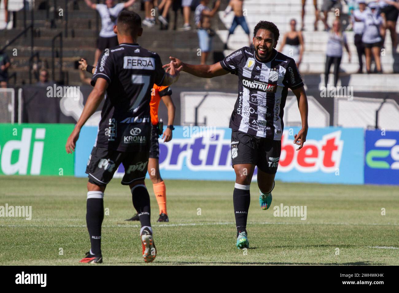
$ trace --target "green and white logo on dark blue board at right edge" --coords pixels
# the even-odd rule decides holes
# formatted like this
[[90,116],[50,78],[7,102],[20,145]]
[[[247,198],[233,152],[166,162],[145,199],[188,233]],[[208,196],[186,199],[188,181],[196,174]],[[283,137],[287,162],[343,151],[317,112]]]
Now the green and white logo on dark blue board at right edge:
[[[374,143],[376,149],[371,149],[366,153],[366,164],[375,169],[395,169],[399,170],[399,144],[395,139],[381,138]],[[393,163],[387,159],[393,159]]]

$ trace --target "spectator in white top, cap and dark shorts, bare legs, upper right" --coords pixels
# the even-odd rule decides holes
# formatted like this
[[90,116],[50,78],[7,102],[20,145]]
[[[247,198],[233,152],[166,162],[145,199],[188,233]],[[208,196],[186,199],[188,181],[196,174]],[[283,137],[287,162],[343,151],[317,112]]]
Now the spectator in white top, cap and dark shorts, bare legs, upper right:
[[364,18],[364,31],[361,40],[363,41],[364,51],[366,55],[366,70],[371,73],[371,54],[373,54],[377,73],[382,73],[381,68],[381,30],[385,27],[384,19],[378,13],[378,4],[369,3],[371,11],[367,11]]

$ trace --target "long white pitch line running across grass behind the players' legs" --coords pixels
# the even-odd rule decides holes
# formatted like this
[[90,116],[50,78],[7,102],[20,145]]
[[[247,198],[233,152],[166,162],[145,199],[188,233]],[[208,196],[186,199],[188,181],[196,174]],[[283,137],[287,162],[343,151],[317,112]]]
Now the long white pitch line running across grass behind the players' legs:
[[[177,227],[177,226],[218,226],[218,225],[233,225],[234,222],[213,222],[213,223],[180,223],[180,224],[158,224],[154,227]],[[398,226],[398,223],[304,223],[304,222],[249,222],[248,224],[261,224],[261,225],[334,225],[334,226]],[[86,227],[86,225],[6,225],[2,224],[0,227]],[[120,228],[120,227],[132,227],[137,228],[140,225],[103,225],[104,228]]]

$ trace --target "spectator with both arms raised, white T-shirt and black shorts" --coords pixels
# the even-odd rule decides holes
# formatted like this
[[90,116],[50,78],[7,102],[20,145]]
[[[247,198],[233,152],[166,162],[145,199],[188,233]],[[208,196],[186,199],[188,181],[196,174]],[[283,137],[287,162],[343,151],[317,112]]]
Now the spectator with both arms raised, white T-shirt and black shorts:
[[105,0],[105,4],[95,4],[91,0],[85,0],[87,6],[91,9],[95,9],[99,12],[101,17],[101,31],[97,41],[97,49],[94,55],[94,66],[97,65],[97,61],[101,53],[107,49],[115,47],[118,44],[117,34],[114,33],[114,26],[117,25],[117,17],[119,12],[124,8],[128,8],[136,0],[129,0],[115,4],[114,0]]

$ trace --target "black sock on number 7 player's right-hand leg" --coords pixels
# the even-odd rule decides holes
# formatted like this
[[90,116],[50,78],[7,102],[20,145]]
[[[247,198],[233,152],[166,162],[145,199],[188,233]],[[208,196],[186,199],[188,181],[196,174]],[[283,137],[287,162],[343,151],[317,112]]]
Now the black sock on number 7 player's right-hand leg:
[[150,207],[150,195],[148,194],[147,187],[145,185],[136,185],[132,188],[132,201],[133,206],[138,212],[138,218],[142,227],[151,227],[151,207]]

